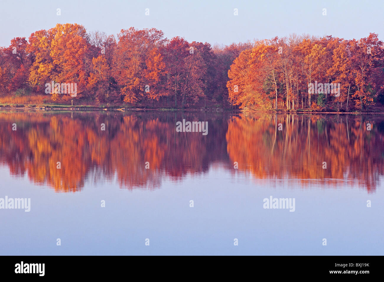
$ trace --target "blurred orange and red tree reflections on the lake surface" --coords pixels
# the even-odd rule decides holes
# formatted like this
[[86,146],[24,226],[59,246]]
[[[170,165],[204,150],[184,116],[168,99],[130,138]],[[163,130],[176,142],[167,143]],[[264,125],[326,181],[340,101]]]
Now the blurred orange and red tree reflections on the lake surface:
[[[176,132],[182,119],[207,121],[208,135]],[[297,180],[301,187],[357,183],[371,193],[382,174],[383,132],[377,115],[1,112],[0,163],[58,192],[115,179],[122,188],[156,189],[164,178],[220,165],[228,175]]]

